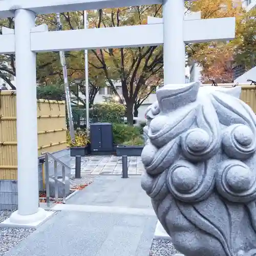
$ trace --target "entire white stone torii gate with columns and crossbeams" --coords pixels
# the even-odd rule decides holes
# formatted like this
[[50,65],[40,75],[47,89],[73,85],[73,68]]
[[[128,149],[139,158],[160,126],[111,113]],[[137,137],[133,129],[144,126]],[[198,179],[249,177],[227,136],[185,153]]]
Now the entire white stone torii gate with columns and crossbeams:
[[[163,23],[51,32],[35,27],[38,14],[151,4],[163,4]],[[36,52],[163,44],[164,84],[184,83],[184,44],[230,40],[235,26],[233,17],[184,20],[184,0],[1,0],[0,18],[13,16],[15,31],[3,28],[0,54],[16,56],[18,210],[2,225],[19,227],[36,227],[50,216],[38,208]]]

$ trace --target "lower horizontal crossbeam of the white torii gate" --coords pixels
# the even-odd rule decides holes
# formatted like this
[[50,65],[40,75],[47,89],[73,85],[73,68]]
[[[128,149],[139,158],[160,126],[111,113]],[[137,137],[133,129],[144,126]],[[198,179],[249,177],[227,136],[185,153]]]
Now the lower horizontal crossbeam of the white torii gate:
[[[230,30],[232,25],[232,17],[186,20],[184,21],[183,41],[192,43],[230,40],[233,38],[233,31]],[[51,32],[48,32],[45,26],[38,26],[30,33],[30,38],[30,49],[33,52],[155,46],[163,45],[164,42],[163,23]],[[72,38],[72,41],[67,38]],[[81,38],[90,38],[90,40],[81,40]],[[4,29],[3,35],[0,36],[0,53],[15,53],[14,31]]]

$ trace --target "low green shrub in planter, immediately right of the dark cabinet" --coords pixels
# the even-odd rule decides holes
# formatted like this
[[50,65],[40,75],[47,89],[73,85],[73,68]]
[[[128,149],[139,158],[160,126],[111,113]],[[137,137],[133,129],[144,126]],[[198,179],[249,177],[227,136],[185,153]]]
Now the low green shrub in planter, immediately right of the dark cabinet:
[[113,137],[115,144],[123,144],[125,141],[128,142],[141,137],[140,128],[124,123],[113,123]]

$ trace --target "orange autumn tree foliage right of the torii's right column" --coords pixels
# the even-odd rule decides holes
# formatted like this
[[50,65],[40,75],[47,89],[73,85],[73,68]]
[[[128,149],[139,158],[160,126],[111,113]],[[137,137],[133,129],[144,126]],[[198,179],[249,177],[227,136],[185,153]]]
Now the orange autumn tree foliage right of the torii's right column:
[[[236,17],[237,32],[245,14],[241,1],[233,0],[199,0],[190,4],[191,11],[201,11],[201,18]],[[237,33],[238,34],[238,33]],[[236,48],[234,41],[209,42],[193,44],[187,47],[188,63],[196,61],[202,67],[201,82],[217,83],[233,81],[232,67],[236,64]]]

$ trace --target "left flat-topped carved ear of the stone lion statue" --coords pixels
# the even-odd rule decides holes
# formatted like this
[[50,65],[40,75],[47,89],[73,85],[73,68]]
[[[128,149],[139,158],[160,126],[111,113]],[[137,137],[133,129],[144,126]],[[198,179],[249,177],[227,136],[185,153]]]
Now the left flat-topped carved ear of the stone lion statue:
[[199,82],[187,84],[170,84],[157,90],[157,100],[162,112],[174,111],[196,101]]

